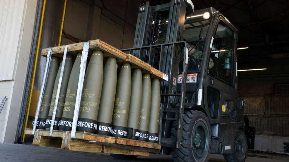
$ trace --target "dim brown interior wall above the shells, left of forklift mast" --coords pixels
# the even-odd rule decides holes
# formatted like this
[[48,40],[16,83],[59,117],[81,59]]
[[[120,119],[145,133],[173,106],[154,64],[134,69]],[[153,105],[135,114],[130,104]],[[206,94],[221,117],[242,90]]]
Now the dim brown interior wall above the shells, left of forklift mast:
[[[81,40],[101,39],[116,48],[133,45],[135,26],[141,0],[93,0],[85,4],[67,1],[64,31]],[[75,43],[62,38],[62,45]]]

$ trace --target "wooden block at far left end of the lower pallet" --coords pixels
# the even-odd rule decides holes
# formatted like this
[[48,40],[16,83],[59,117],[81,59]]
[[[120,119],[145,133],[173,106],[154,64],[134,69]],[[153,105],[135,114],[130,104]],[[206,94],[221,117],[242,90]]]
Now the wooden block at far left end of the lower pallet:
[[32,145],[41,146],[41,147],[61,148],[62,138],[38,136],[37,141],[35,140],[35,138],[36,138],[36,136],[34,136],[34,138],[33,138]]

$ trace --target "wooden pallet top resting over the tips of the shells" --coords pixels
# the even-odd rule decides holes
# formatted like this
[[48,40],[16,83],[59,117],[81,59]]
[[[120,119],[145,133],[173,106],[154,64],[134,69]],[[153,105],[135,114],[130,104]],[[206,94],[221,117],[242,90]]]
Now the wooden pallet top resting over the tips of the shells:
[[[84,42],[69,44],[67,48],[67,53],[71,55],[77,55],[78,52],[82,52]],[[56,46],[52,49],[52,55],[62,57],[65,46]],[[49,48],[42,49],[41,55],[46,56],[48,54]],[[91,55],[93,50],[101,50],[104,52],[104,57],[115,57],[118,63],[129,62],[132,64],[132,68],[140,68],[143,73],[151,74],[151,78],[159,78],[160,81],[167,81],[167,75],[160,72],[159,70],[151,67],[150,64],[142,61],[141,59],[131,55],[126,54],[119,49],[97,39],[89,41],[89,55]]]

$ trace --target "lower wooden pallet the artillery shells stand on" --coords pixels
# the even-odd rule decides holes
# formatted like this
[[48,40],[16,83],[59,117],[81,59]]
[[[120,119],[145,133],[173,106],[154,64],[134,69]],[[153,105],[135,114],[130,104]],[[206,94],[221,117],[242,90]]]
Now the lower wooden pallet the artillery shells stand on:
[[[26,129],[25,134],[32,134],[32,129]],[[33,145],[42,147],[58,147],[71,151],[103,152],[110,154],[148,156],[149,152],[160,152],[161,145],[157,143],[131,140],[120,137],[110,137],[87,132],[76,132],[75,139],[71,133],[49,130],[39,130],[34,134]]]

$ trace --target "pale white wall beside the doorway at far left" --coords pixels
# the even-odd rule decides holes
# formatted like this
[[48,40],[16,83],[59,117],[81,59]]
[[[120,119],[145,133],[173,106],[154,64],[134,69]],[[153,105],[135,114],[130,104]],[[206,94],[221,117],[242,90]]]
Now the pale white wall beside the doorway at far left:
[[37,0],[0,1],[0,143],[14,143],[33,40]]

